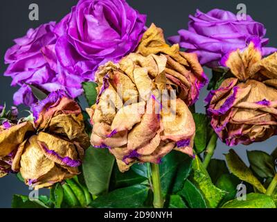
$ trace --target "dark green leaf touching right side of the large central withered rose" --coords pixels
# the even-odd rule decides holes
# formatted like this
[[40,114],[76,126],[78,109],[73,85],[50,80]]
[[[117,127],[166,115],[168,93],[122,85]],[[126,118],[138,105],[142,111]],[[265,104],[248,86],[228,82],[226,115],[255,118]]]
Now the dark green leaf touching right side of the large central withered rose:
[[195,120],[195,151],[202,153],[206,148],[209,120],[205,114],[193,113]]

